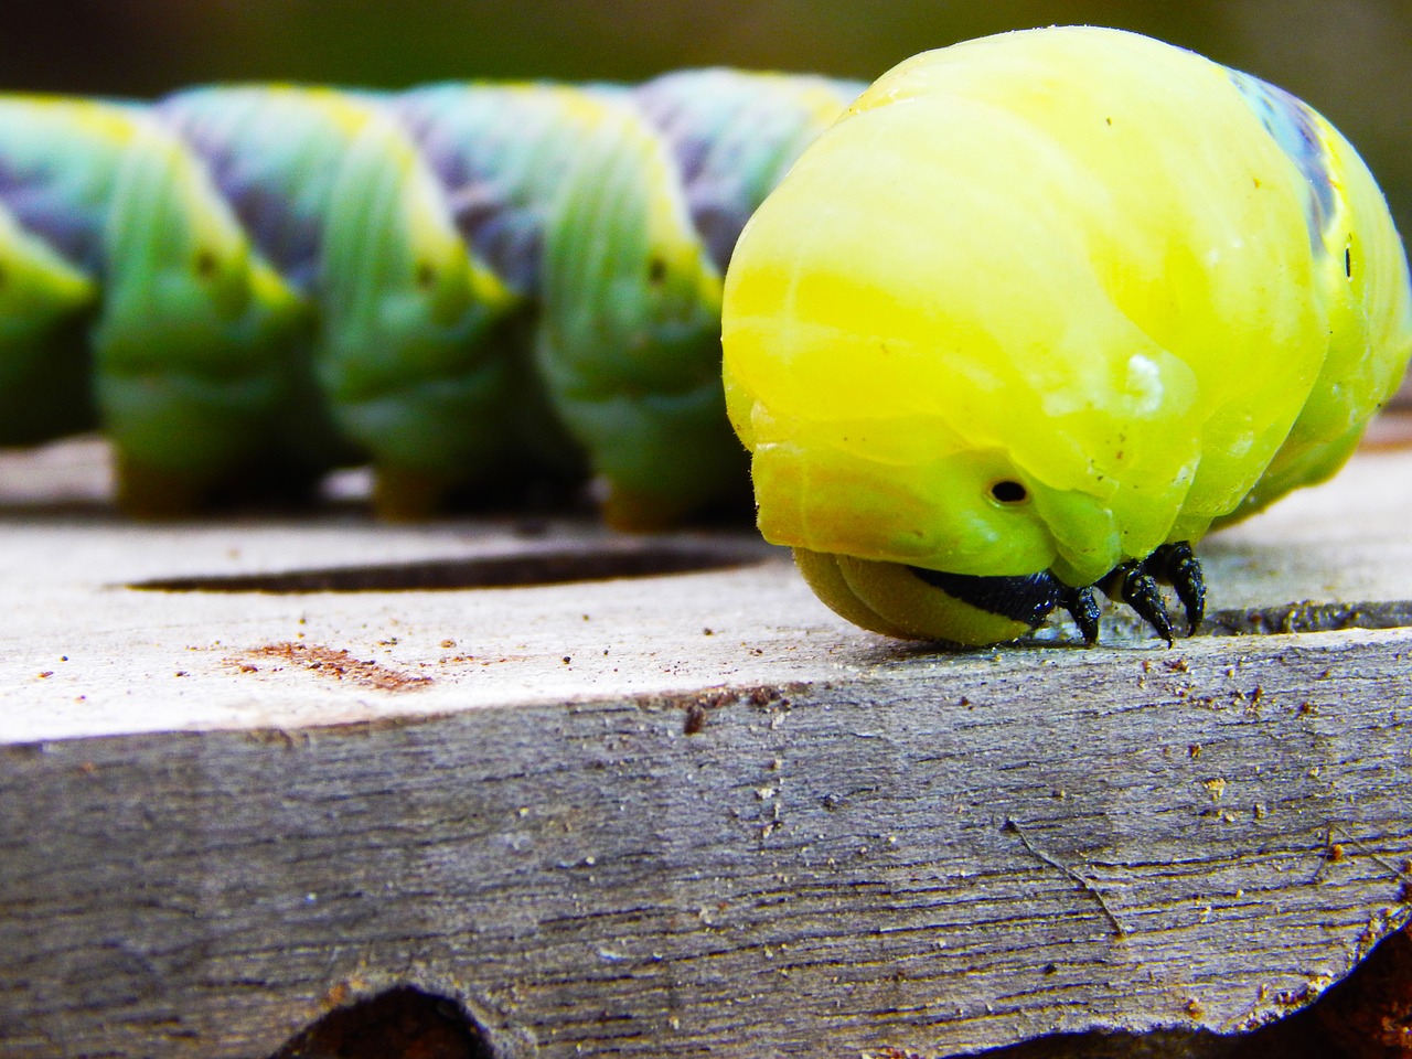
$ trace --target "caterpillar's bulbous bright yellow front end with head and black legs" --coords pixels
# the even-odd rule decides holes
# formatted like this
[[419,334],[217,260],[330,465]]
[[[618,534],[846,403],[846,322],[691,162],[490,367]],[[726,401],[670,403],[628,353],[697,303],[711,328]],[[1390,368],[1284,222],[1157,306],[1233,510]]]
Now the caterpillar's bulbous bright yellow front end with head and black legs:
[[[847,189],[840,193],[840,189]],[[894,637],[990,644],[1094,586],[1172,642],[1192,544],[1332,474],[1412,350],[1408,263],[1353,147],[1137,34],[912,58],[741,234],[724,385],[764,535]]]

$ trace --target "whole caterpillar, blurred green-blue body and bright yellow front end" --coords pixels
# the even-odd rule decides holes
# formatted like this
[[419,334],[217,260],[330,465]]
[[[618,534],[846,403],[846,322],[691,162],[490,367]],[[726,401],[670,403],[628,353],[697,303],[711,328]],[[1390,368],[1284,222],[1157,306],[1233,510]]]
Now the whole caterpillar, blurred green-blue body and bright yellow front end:
[[0,442],[99,422],[145,511],[271,463],[369,456],[390,514],[587,467],[638,528],[744,442],[761,531],[866,628],[1091,642],[1097,586],[1171,641],[1166,580],[1195,630],[1192,544],[1332,474],[1412,353],[1367,168],[1114,30],[863,88],[0,100]]

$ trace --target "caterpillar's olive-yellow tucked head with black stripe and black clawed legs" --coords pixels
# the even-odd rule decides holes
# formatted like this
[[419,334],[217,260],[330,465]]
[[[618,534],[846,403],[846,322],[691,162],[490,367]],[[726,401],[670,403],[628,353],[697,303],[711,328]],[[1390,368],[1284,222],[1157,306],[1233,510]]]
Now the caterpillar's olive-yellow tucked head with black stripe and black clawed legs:
[[[1022,576],[943,573],[898,562],[795,548],[795,563],[834,613],[901,640],[962,647],[998,644],[1034,631],[1055,607],[1069,611],[1086,644],[1099,640],[1100,609],[1091,586],[1070,586],[1048,570]],[[1206,585],[1187,542],[1165,544],[1147,559],[1114,568],[1100,585],[1121,597],[1172,645],[1172,624],[1156,582],[1175,586],[1187,635],[1200,626]]]

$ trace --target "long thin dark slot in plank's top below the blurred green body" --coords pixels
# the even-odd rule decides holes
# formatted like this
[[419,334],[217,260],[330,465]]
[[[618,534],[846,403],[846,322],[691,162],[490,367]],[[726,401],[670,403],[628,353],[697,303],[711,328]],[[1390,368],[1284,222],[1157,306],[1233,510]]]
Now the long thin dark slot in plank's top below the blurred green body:
[[761,562],[765,545],[604,542],[582,548],[537,548],[466,559],[330,566],[282,573],[158,578],[127,587],[155,592],[429,592],[568,585],[613,578],[699,573]]

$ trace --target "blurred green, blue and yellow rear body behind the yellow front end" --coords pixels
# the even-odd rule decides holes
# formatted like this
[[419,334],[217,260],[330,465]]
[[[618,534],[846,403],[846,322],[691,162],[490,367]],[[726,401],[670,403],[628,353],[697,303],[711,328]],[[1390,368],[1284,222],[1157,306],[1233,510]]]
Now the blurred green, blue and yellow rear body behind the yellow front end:
[[100,426],[138,514],[352,462],[394,517],[586,470],[627,528],[744,494],[722,275],[863,88],[0,97],[0,443]]

